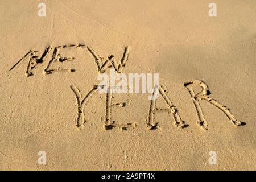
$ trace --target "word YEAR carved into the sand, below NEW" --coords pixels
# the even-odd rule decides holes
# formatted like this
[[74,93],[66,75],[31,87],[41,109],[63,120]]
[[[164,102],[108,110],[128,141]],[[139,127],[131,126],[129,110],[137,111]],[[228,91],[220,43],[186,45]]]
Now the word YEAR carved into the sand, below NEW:
[[[201,91],[199,93],[195,94],[195,91],[193,87],[200,86]],[[213,106],[217,107],[222,113],[226,115],[226,117],[229,119],[230,123],[232,123],[234,126],[240,126],[243,123],[240,121],[237,121],[237,119],[230,113],[229,109],[223,105],[221,105],[216,100],[210,98],[208,86],[205,84],[205,82],[200,80],[194,80],[184,83],[184,87],[188,89],[188,92],[192,98],[192,102],[195,106],[196,115],[198,120],[196,121],[197,125],[203,129],[204,131],[208,130],[208,122],[204,118],[203,110],[201,109],[201,106],[199,104],[199,100],[205,100],[208,101]],[[76,127],[78,129],[82,129],[84,127],[84,123],[86,122],[84,119],[84,105],[89,100],[89,97],[92,96],[92,94],[98,93],[96,92],[98,88],[98,85],[94,85],[93,88],[89,91],[88,94],[84,98],[82,98],[80,91],[76,88],[76,86],[71,85],[72,91],[75,93],[75,96],[77,98],[77,120],[76,120]],[[110,89],[110,88],[109,88]],[[158,101],[158,98],[155,100],[150,100],[148,105],[148,117],[147,117],[147,129],[148,130],[155,130],[160,129],[158,123],[154,121],[155,114],[156,113],[168,113],[172,115],[172,118],[174,119],[174,126],[178,129],[182,129],[184,127],[187,127],[188,125],[185,124],[184,121],[182,121],[177,108],[172,104],[170,98],[167,96],[167,88],[165,86],[160,85],[159,86],[159,97],[162,97],[164,101],[166,102],[166,108],[165,109],[159,109],[156,107],[156,102]],[[132,101],[127,100],[127,102],[121,102],[121,103],[112,103],[112,92],[108,92],[105,94],[105,116],[101,118],[101,121],[104,122],[103,128],[104,130],[110,130],[114,127],[119,128],[121,131],[127,130],[127,129],[134,129],[137,126],[137,123],[126,123],[126,124],[118,124],[115,123],[112,120],[112,109],[114,107],[118,106],[125,107],[127,105],[131,105]],[[154,93],[153,93],[154,95]]]

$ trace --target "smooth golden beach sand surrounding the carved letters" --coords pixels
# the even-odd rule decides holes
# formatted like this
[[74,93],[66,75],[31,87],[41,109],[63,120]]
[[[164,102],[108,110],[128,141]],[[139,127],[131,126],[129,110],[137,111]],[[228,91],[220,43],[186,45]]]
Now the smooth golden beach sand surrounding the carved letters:
[[[45,17],[38,16],[42,2]],[[256,2],[215,0],[217,17],[209,17],[211,2],[1,0],[0,169],[255,170]],[[55,48],[71,44],[85,46],[60,49],[63,59],[75,59],[56,61],[55,72],[45,74]],[[159,73],[186,127],[177,128],[173,114],[163,111],[148,130],[151,100],[138,93],[112,94],[112,104],[130,103],[113,107],[116,126],[104,130],[106,94],[95,92],[78,129],[71,86],[85,97],[99,83],[88,46],[104,60],[114,55],[118,61],[129,46],[122,73]],[[48,47],[33,75],[26,75],[29,57],[10,70],[26,53],[33,61]],[[212,103],[192,100],[184,83],[193,80],[207,84],[208,97],[227,106],[242,126]],[[194,101],[207,131],[197,124]],[[170,108],[161,94],[155,106]],[[46,152],[46,165],[38,164],[39,151]],[[210,151],[217,164],[209,164]]]

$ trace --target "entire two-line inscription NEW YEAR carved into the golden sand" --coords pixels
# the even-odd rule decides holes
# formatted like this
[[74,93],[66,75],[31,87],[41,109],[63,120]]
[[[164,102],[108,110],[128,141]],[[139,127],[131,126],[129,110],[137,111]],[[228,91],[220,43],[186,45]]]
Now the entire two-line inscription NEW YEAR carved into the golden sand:
[[[70,45],[63,45],[63,46],[57,46],[54,48],[54,51],[52,53],[52,58],[49,60],[49,63],[47,65],[47,68],[44,69],[44,73],[46,75],[52,74],[52,73],[60,73],[60,72],[74,72],[74,69],[61,69],[61,68],[54,68],[53,64],[56,62],[63,63],[65,61],[72,61],[75,59],[75,57],[62,57],[59,53],[59,51],[63,48],[80,48],[84,47],[82,44],[70,44]],[[52,46],[48,46],[46,50],[43,52],[41,56],[36,56],[36,52],[34,50],[28,51],[26,55],[22,57],[16,64],[11,67],[10,71],[13,70],[15,67],[17,67],[20,63],[22,63],[25,59],[29,59],[28,66],[26,70],[26,76],[32,76],[32,69],[36,68],[38,64],[43,63],[43,61],[46,59],[46,57],[49,55],[49,52],[51,51]],[[125,47],[125,50],[123,52],[123,56],[121,60],[117,61],[113,55],[108,56],[108,59],[104,60],[104,58],[96,53],[91,47],[87,47],[88,52],[93,56],[93,59],[95,60],[96,66],[97,66],[97,72],[98,73],[104,73],[107,68],[114,68],[114,72],[118,75],[119,73],[122,73],[123,68],[125,68],[128,57],[129,57],[129,50],[130,48],[127,46]],[[77,118],[76,118],[76,127],[78,129],[82,129],[85,124],[85,113],[84,113],[84,106],[86,105],[86,102],[89,100],[90,96],[93,94],[99,93],[97,90],[99,88],[102,88],[106,85],[94,85],[92,86],[92,89],[90,89],[89,93],[86,94],[85,97],[82,97],[79,89],[76,88],[76,86],[71,85],[70,88],[73,91],[73,93],[76,96],[77,100]],[[195,92],[195,86],[200,87],[201,91],[199,93]],[[108,90],[111,90],[113,88],[110,88],[109,86]],[[184,121],[182,121],[177,108],[172,104],[170,97],[167,95],[167,88],[163,85],[155,85],[153,96],[157,95],[155,99],[152,99],[148,101],[148,116],[147,116],[147,129],[149,130],[155,130],[160,129],[158,123],[155,122],[155,114],[156,113],[168,113],[172,115],[172,118],[174,119],[174,126],[178,129],[182,129],[184,127],[187,127],[188,125],[185,124]],[[195,111],[197,115],[197,125],[203,129],[204,131],[208,130],[208,122],[204,118],[203,109],[200,106],[199,101],[205,100],[215,106],[218,110],[222,111],[226,115],[226,117],[229,119],[230,123],[232,123],[234,126],[240,126],[245,123],[237,121],[237,119],[230,113],[229,109],[221,105],[219,102],[214,100],[213,98],[209,97],[209,90],[207,84],[205,82],[200,80],[192,80],[184,83],[184,88],[188,90],[188,94],[191,96],[191,100],[193,102],[193,105],[195,106]],[[158,102],[158,93],[159,96],[164,99],[166,102],[166,108],[165,109],[159,109],[156,107],[156,103]],[[104,94],[104,93],[101,93]],[[127,130],[127,129],[135,129],[137,126],[137,123],[126,123],[126,124],[118,124],[115,123],[112,119],[112,110],[115,107],[126,107],[127,105],[131,105],[132,101],[127,100],[126,102],[120,102],[120,103],[112,103],[112,92],[106,92],[105,95],[105,115],[101,118],[101,121],[104,123],[103,128],[104,130],[110,130],[113,128],[119,128],[121,131]]]

